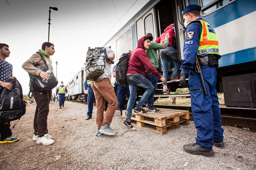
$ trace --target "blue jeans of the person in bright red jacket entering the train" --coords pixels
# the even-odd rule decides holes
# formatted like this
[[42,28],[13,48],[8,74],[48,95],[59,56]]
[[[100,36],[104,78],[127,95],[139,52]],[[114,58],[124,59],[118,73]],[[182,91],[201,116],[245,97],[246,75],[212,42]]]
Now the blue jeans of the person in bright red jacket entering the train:
[[163,77],[166,79],[166,83],[163,83],[163,85],[167,85],[167,75],[169,72],[169,68],[168,68],[169,59],[172,59],[175,62],[175,67],[173,69],[171,78],[175,78],[177,76],[181,66],[181,61],[178,59],[177,51],[172,46],[169,46],[165,49],[161,49],[160,57],[163,65]]

